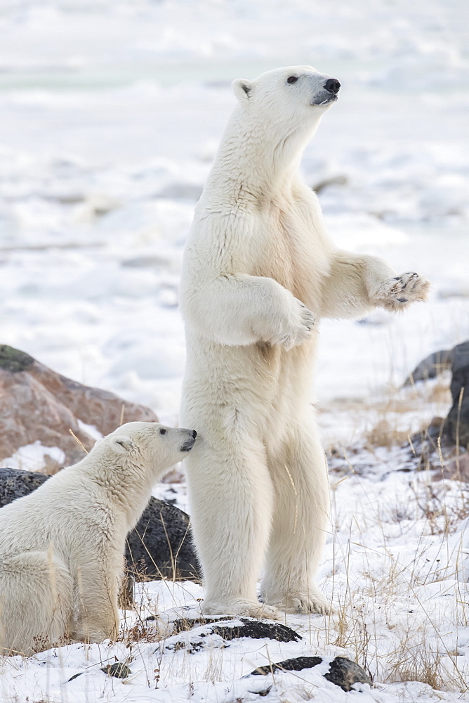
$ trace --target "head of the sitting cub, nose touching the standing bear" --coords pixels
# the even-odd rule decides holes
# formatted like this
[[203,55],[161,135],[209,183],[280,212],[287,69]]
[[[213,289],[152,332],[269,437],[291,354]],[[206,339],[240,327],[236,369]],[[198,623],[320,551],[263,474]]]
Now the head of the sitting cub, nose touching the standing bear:
[[116,459],[152,467],[155,475],[183,460],[195,444],[197,432],[159,423],[126,423],[96,443]]

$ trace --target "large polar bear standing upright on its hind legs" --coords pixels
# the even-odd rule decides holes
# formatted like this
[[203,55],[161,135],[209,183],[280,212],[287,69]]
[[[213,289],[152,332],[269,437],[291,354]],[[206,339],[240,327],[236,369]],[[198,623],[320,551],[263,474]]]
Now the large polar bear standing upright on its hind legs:
[[201,437],[186,466],[206,614],[327,612],[314,578],[330,530],[310,407],[317,321],[400,310],[428,290],[416,273],[336,248],[298,176],[339,88],[310,66],[234,81],[237,108],[187,240],[181,422]]

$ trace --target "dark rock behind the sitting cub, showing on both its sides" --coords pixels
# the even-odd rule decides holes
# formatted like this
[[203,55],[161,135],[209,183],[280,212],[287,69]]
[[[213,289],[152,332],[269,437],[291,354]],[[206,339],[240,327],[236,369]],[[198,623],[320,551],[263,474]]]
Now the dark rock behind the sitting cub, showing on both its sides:
[[[0,508],[28,496],[48,478],[34,471],[0,469]],[[123,606],[130,605],[133,579],[200,581],[189,515],[157,498],[150,498],[136,528],[128,534],[126,559],[129,574],[121,592]]]

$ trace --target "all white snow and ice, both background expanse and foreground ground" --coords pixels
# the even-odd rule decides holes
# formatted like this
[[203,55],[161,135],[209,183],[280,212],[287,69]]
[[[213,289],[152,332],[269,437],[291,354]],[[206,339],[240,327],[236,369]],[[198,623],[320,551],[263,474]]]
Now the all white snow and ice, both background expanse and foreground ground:
[[[400,316],[377,311],[360,323],[322,323],[324,439],[355,441],[378,420],[367,408],[419,359],[469,337],[467,39],[462,0],[3,0],[0,342],[175,422],[185,357],[180,259],[234,105],[230,82],[279,65],[314,65],[342,84],[303,161],[308,183],[329,181],[319,197],[331,235],[433,284],[428,304]],[[436,414],[430,404],[419,407],[418,396],[412,402],[399,423]],[[343,646],[384,682],[405,673],[392,673],[386,652],[407,648],[423,666],[426,642],[430,668],[431,657],[442,657],[451,670],[447,687],[462,690],[452,662],[467,680],[468,594],[456,586],[453,566],[464,511],[455,508],[450,534],[433,529],[418,512],[416,491],[427,489],[413,482],[423,479],[383,479],[382,468],[395,465],[387,451],[378,451],[376,472],[351,473],[333,491],[336,522],[322,579],[338,612],[348,608],[343,624],[312,618],[295,626],[308,638],[311,631],[314,652]],[[184,487],[178,491],[183,501]],[[458,505],[456,489],[447,500]],[[200,595],[196,586],[175,586],[170,602],[164,594],[172,586],[145,588],[152,607],[157,597],[169,607]],[[91,702],[102,693],[104,700],[183,701],[194,690],[200,701],[257,699],[235,682],[260,661],[258,652],[246,650],[246,664],[223,654],[209,690],[204,653],[192,671],[192,655],[178,652],[192,671],[184,683],[179,664],[165,668],[163,657],[154,690],[154,645],[133,648],[140,653],[130,682],[105,680],[97,662],[128,656],[119,646],[11,659],[2,664],[0,695],[19,703]],[[282,675],[266,699],[461,699],[421,684],[345,694],[323,683],[318,692],[319,679],[308,676]]]

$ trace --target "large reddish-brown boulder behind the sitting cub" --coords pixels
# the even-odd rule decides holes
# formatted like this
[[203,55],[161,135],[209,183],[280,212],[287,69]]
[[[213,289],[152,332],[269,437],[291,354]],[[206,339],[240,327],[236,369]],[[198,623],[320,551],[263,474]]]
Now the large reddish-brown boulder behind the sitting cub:
[[[158,422],[150,408],[72,381],[29,354],[0,344],[0,460],[39,440],[62,449],[65,465],[77,462],[84,452],[70,430],[86,450],[95,443],[78,420],[102,434],[133,420]],[[58,468],[50,467],[50,472]]]

